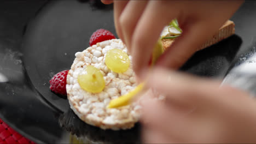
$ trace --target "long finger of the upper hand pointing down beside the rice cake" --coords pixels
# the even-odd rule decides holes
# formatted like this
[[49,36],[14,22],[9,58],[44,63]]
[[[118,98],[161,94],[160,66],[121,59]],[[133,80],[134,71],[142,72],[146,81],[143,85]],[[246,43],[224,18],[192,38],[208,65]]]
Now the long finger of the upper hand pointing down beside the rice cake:
[[133,70],[141,78],[143,78],[144,69],[148,69],[153,47],[158,41],[162,29],[176,16],[175,12],[166,14],[166,11],[172,8],[170,5],[167,7],[165,3],[170,2],[149,1],[132,35]]

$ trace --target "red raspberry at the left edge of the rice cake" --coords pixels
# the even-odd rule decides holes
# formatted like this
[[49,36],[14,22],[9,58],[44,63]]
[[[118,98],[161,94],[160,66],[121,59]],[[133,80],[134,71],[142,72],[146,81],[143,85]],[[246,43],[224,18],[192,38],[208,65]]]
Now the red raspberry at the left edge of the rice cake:
[[66,96],[67,74],[69,70],[63,70],[53,76],[50,80],[50,89],[56,94]]

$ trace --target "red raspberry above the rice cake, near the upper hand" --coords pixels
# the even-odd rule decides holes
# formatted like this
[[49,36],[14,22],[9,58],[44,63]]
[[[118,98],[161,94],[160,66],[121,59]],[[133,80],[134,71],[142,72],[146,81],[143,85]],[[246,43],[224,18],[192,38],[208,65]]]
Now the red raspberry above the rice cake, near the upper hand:
[[101,41],[109,39],[115,39],[113,33],[109,32],[106,29],[98,29],[96,32],[92,33],[89,44],[90,46],[92,46],[100,43]]

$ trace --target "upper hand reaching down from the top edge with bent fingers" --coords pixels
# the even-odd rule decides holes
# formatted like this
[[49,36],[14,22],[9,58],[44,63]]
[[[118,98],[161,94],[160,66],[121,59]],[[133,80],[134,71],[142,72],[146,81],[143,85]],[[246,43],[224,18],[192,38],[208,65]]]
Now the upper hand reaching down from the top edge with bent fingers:
[[[113,1],[102,0],[103,3]],[[118,36],[132,54],[139,76],[148,68],[153,46],[164,26],[174,18],[182,37],[159,59],[159,65],[177,69],[240,7],[243,1],[114,1]]]

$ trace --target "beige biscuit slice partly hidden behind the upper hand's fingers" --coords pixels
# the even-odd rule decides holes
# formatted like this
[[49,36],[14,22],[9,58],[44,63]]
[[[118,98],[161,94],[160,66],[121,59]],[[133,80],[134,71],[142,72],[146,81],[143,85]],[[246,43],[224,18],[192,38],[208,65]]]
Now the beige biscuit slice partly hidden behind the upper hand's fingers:
[[[200,46],[198,50],[202,50],[208,46],[216,44],[220,40],[228,38],[234,33],[235,33],[235,23],[228,20],[224,23],[222,27],[219,28],[219,31],[216,34],[214,34],[210,40],[206,41],[205,44]],[[166,35],[166,36],[170,36],[170,35]],[[165,50],[168,47],[170,47],[173,42],[174,42],[174,39],[162,39],[162,45],[164,46]]]

